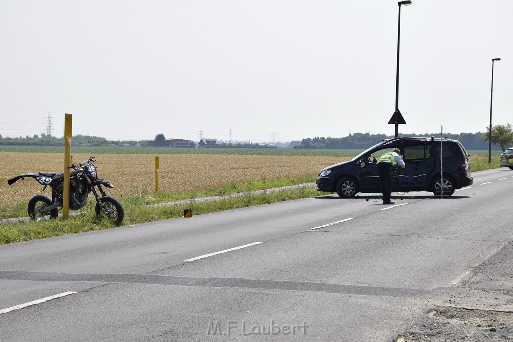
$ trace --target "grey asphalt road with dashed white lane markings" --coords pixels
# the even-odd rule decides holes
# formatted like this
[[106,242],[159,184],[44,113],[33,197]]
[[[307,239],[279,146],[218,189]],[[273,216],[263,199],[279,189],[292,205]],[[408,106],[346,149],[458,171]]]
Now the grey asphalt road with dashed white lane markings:
[[0,246],[0,339],[393,341],[439,306],[512,310],[513,171],[473,176]]

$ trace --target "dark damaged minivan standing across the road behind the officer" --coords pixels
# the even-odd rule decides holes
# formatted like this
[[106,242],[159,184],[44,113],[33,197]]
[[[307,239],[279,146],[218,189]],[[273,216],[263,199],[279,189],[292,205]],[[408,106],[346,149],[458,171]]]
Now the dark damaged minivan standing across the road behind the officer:
[[435,137],[397,137],[383,140],[349,162],[328,166],[317,176],[317,191],[336,192],[342,198],[358,192],[381,192],[376,162],[385,152],[401,150],[406,168],[393,177],[394,192],[430,191],[452,195],[473,184],[470,158],[458,140]]

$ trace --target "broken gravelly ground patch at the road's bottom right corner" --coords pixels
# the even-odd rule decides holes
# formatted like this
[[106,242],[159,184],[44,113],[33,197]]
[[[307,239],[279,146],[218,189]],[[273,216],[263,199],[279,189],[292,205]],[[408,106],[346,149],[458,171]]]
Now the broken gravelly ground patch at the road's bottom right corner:
[[513,312],[437,307],[397,341],[513,341]]

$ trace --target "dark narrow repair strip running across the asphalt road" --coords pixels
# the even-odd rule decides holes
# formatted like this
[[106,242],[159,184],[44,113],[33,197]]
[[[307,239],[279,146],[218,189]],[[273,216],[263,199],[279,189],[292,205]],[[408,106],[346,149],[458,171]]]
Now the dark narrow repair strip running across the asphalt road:
[[246,288],[408,298],[419,297],[431,292],[421,289],[308,283],[305,281],[259,280],[243,278],[192,278],[155,274],[75,274],[0,271],[0,279],[56,282],[84,281],[95,283],[132,283],[210,288]]

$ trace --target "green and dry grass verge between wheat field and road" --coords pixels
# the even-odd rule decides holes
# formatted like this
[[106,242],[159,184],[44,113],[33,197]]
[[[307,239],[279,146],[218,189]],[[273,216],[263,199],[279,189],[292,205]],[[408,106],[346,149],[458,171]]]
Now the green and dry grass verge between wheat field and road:
[[[308,182],[305,182],[308,180]],[[278,192],[267,192],[266,189],[311,183],[311,179],[295,178],[257,182],[251,180],[246,184],[230,184],[222,189],[210,189],[196,193],[170,195],[165,193],[135,194],[122,199],[125,212],[124,226],[152,222],[168,218],[184,216],[185,209],[191,209],[193,215],[226,211],[231,209],[257,206],[291,199],[308,198],[318,195],[315,186],[298,185],[293,189]],[[244,193],[240,196],[227,196]],[[199,200],[207,196],[226,196],[216,200],[203,202]],[[179,204],[148,207],[151,204],[180,201]],[[94,214],[93,200],[81,211],[70,211],[70,217],[51,220],[9,222],[0,225],[0,244],[22,242],[51,236],[60,236],[86,231],[101,230],[114,227],[108,220],[98,219]],[[5,213],[4,213],[5,215]],[[26,205],[15,206],[9,212],[10,217],[26,217]]]

